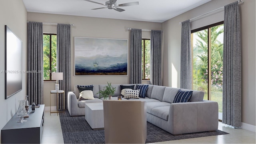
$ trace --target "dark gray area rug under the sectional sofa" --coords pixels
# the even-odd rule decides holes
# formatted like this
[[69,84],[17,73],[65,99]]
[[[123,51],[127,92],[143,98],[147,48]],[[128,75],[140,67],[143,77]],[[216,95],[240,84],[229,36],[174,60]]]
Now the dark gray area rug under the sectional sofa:
[[[104,130],[92,130],[84,116],[70,116],[66,110],[60,113],[60,124],[65,144],[99,144],[105,143]],[[216,136],[228,134],[221,130],[213,132],[198,132],[192,134],[172,135],[157,126],[147,122],[146,143],[181,140],[186,138],[198,138],[204,136]]]

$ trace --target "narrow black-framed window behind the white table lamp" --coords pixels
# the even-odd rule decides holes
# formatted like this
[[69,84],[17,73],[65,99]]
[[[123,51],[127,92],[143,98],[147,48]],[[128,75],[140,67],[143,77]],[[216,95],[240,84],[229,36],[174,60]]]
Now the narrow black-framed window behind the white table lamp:
[[56,72],[57,35],[43,34],[44,45],[44,81],[52,80],[52,72]]

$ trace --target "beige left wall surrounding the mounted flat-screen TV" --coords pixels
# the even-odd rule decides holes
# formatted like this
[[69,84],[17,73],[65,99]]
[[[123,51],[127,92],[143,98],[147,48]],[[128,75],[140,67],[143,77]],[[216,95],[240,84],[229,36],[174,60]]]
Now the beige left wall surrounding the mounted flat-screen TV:
[[[0,71],[4,70],[4,25],[22,40],[22,70],[26,70],[26,19],[27,12],[22,0],[0,0]],[[25,99],[26,78],[22,74],[22,90],[4,99],[4,73],[0,73],[0,129],[18,109],[18,100]]]

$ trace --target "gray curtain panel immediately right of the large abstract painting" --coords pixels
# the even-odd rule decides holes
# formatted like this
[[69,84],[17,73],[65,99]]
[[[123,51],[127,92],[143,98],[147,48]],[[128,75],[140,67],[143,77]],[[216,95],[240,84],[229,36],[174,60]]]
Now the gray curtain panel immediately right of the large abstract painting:
[[142,82],[142,36],[141,29],[130,31],[130,84],[141,84]]

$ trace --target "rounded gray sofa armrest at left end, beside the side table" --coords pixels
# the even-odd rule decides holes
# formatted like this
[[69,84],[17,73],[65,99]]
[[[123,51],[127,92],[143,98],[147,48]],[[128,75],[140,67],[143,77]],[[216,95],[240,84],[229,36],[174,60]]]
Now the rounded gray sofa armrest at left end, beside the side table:
[[78,100],[76,98],[76,94],[74,92],[68,92],[68,112],[70,116],[73,116],[74,111],[78,108]]

